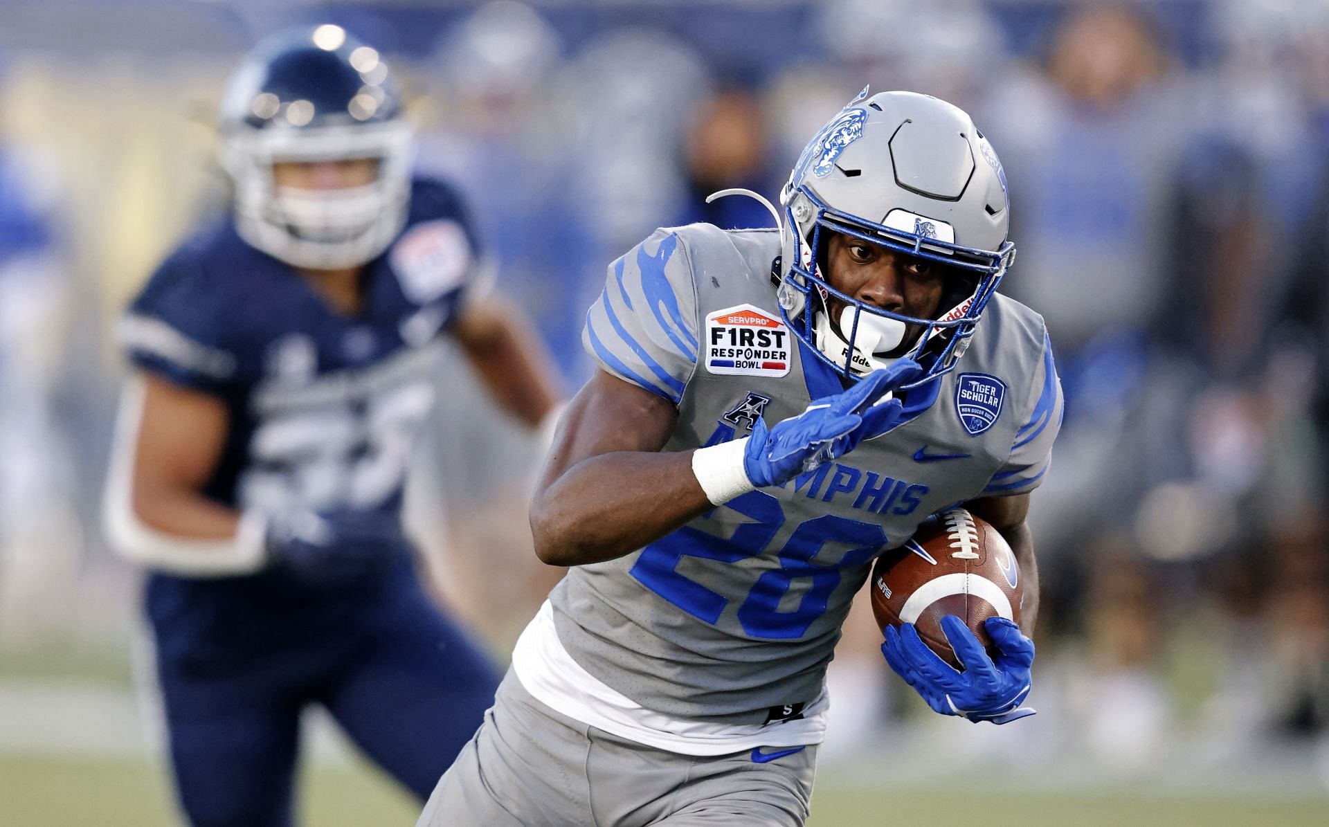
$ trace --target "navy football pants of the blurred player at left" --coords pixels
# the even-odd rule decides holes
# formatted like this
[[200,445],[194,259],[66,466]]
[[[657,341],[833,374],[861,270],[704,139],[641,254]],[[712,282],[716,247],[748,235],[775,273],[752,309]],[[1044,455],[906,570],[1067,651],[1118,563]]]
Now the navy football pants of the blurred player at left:
[[[175,784],[195,827],[287,827],[299,715],[323,705],[423,802],[493,703],[498,675],[413,582],[316,646],[238,667],[158,662]],[[340,626],[340,628],[338,628]]]

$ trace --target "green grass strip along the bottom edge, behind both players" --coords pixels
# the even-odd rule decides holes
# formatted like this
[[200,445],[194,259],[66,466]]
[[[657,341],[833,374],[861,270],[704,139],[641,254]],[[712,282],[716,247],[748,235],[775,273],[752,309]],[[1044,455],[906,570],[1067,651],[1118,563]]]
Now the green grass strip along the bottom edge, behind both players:
[[[167,827],[167,790],[142,761],[0,757],[0,824],[5,827]],[[319,766],[303,779],[300,823],[377,827],[415,823],[419,806],[372,771]],[[1175,827],[1259,824],[1322,827],[1329,796],[1233,798],[1114,792],[964,794],[819,784],[811,827],[877,824],[983,827]]]

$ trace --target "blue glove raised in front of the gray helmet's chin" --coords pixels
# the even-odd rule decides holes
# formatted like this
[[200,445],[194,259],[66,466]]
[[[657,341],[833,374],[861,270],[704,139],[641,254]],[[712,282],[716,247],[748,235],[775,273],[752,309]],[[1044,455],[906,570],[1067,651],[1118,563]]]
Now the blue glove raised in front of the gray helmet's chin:
[[779,485],[844,456],[865,439],[885,433],[900,419],[900,400],[874,403],[921,371],[917,362],[901,359],[868,374],[848,391],[813,399],[803,414],[773,428],[756,420],[743,455],[743,471],[758,488]]

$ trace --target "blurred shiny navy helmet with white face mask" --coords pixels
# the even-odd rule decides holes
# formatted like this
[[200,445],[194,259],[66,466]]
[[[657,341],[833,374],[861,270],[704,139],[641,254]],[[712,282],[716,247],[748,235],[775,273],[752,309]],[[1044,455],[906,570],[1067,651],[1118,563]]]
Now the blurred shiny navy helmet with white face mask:
[[[352,267],[405,223],[413,130],[373,48],[338,25],[260,43],[231,76],[221,109],[222,166],[235,183],[241,237],[290,265]],[[278,162],[375,158],[377,178],[334,190],[276,186]]]

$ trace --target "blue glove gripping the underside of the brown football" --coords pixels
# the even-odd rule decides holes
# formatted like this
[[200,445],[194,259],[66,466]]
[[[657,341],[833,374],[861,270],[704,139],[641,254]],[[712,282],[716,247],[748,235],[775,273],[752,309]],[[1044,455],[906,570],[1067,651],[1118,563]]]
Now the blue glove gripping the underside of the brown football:
[[960,715],[974,723],[1010,723],[1034,714],[1021,706],[1033,687],[1029,671],[1034,665],[1034,641],[1021,634],[1019,626],[1003,617],[989,617],[983,624],[1001,650],[995,662],[958,617],[941,618],[941,628],[964,671],[937,657],[913,624],[904,624],[898,630],[886,626],[886,642],[881,645],[890,669],[913,686],[933,711]]

